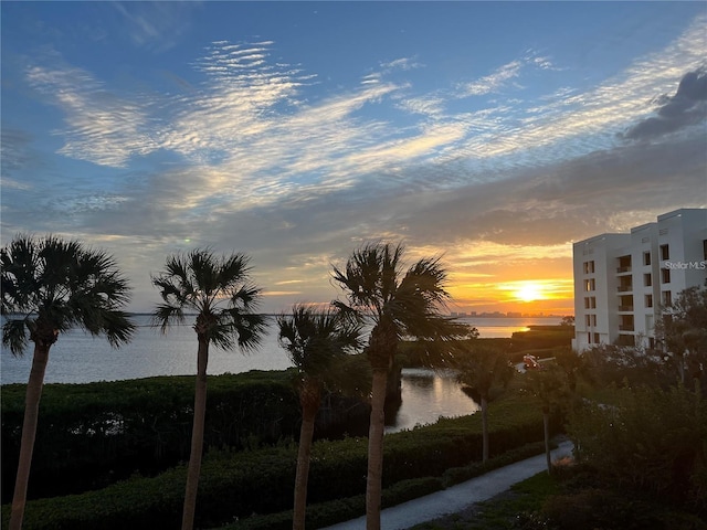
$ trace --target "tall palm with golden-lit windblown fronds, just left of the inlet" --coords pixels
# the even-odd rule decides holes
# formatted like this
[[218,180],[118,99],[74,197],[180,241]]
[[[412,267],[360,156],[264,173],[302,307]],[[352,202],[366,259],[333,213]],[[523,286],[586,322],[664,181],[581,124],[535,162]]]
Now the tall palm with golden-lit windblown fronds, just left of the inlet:
[[[422,258],[403,271],[404,248],[401,244],[367,243],[354,251],[346,268],[334,267],[334,279],[345,290],[348,303],[335,301],[345,311],[368,316],[372,329],[368,357],[372,369],[371,420],[368,441],[368,476],[366,484],[366,527],[380,529],[381,478],[386,386],[398,343],[414,337],[421,343],[449,349],[431,349],[443,361],[452,342],[465,336],[465,326],[442,316],[449,294],[444,288],[446,271],[439,257]],[[432,361],[432,359],[430,359]]]

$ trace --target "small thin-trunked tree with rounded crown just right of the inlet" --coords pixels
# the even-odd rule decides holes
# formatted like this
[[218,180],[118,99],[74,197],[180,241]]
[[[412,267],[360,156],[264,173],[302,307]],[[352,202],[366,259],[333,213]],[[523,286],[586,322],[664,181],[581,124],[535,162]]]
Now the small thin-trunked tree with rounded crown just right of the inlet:
[[515,368],[502,351],[493,347],[475,346],[458,364],[457,380],[478,395],[482,402],[482,438],[483,462],[488,460],[488,402],[492,392],[502,384],[508,385],[515,373]]

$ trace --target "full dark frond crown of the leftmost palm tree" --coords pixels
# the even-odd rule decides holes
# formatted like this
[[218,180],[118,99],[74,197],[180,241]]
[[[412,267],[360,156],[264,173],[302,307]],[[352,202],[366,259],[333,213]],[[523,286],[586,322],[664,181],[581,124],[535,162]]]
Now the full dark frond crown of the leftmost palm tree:
[[129,301],[130,288],[104,251],[53,235],[20,235],[1,256],[2,311],[25,315],[23,326],[3,327],[3,341],[7,330],[15,352],[27,346],[19,333],[28,330],[31,340],[52,342],[56,333],[74,326],[105,335],[112,346],[130,339],[135,326],[120,310]]

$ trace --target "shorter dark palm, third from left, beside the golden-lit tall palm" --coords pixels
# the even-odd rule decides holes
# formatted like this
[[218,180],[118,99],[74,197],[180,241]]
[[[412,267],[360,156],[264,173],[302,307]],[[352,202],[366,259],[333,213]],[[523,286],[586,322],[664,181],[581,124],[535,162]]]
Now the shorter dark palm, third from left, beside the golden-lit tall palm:
[[295,305],[292,315],[277,317],[278,342],[287,350],[296,370],[296,388],[302,405],[302,427],[297,454],[293,530],[305,528],[307,479],[314,423],[325,388],[336,384],[336,362],[359,349],[361,327],[355,320],[327,309]]

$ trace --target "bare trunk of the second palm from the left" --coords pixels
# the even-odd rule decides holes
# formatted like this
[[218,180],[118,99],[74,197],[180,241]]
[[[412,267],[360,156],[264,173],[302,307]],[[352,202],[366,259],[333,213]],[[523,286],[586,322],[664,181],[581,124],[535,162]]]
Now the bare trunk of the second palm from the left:
[[201,455],[203,452],[203,426],[207,416],[207,364],[209,362],[209,340],[199,336],[197,353],[197,385],[194,390],[194,420],[191,428],[191,453],[187,470],[187,489],[182,511],[182,530],[192,530],[197,511],[197,491],[201,474]]

